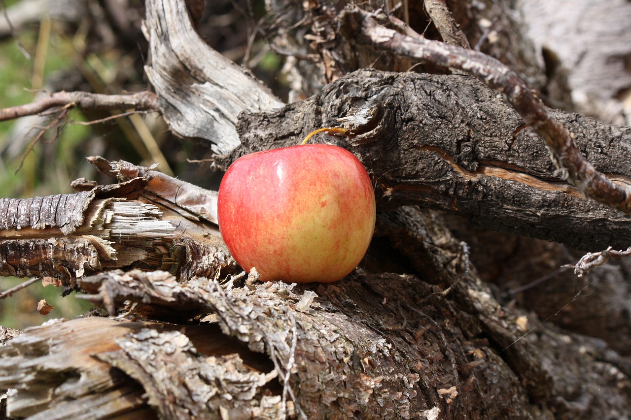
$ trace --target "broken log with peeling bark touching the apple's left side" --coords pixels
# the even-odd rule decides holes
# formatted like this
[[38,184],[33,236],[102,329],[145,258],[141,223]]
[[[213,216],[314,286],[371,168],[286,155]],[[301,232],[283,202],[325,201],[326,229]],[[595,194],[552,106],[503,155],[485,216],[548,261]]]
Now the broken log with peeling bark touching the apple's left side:
[[0,274],[74,279],[122,267],[213,276],[235,262],[216,221],[216,192],[131,165],[91,161],[120,183],[0,200]]

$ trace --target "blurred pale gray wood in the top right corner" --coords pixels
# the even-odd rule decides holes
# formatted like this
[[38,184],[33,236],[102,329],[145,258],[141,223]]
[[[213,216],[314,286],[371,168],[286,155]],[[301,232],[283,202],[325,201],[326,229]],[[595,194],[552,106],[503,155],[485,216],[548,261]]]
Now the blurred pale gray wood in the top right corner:
[[[625,0],[521,0],[517,7],[538,53],[548,54],[548,72],[567,74],[578,109],[625,124],[618,100],[625,91],[628,96],[631,88],[631,4]],[[627,104],[626,124],[631,123],[630,112]]]

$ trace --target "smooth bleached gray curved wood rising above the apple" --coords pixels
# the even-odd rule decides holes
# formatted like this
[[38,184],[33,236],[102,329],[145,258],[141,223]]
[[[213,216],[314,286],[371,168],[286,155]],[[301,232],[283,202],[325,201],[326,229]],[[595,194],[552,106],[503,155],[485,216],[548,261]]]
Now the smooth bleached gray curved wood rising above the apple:
[[151,64],[145,71],[175,134],[228,153],[239,145],[234,125],[240,112],[283,105],[250,74],[204,44],[184,1],[150,0],[146,9]]

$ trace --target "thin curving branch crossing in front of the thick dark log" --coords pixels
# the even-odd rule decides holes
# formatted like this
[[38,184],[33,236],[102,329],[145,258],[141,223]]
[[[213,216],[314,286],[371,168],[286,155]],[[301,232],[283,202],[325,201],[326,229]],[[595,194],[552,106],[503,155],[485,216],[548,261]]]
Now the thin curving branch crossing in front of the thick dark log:
[[615,184],[598,172],[581,155],[574,143],[574,135],[548,114],[538,96],[517,74],[501,62],[481,52],[465,50],[442,42],[411,38],[379,25],[375,18],[358,8],[344,11],[341,28],[348,38],[373,45],[377,49],[432,62],[442,67],[466,71],[490,88],[499,91],[515,108],[526,124],[533,127],[545,140],[550,158],[564,180],[574,185],[587,197],[615,209],[631,213],[631,188]]

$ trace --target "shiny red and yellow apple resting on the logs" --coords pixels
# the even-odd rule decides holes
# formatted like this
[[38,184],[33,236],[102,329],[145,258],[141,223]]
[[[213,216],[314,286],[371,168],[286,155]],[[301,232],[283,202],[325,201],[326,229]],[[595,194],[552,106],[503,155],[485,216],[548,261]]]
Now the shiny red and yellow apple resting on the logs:
[[228,168],[218,195],[221,236],[262,281],[330,283],[349,274],[375,228],[375,194],[348,150],[304,144],[251,153]]

